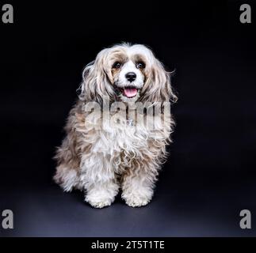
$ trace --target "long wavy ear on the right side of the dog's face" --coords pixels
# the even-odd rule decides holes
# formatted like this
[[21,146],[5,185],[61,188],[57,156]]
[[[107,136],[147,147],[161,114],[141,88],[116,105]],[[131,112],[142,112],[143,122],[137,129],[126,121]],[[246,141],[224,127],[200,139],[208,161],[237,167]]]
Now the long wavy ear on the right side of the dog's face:
[[170,83],[170,75],[172,73],[167,72],[162,63],[158,59],[155,59],[151,66],[150,73],[148,74],[147,81],[143,87],[142,93],[144,100],[150,102],[176,102],[178,97],[174,94],[174,91]]

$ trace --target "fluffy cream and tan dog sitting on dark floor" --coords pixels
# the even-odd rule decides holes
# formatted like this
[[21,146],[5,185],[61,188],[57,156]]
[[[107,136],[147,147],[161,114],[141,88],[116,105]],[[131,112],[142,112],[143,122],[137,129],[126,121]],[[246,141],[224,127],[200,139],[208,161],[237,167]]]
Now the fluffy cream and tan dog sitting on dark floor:
[[[164,103],[177,100],[170,75],[151,49],[141,44],[105,48],[85,67],[78,100],[65,126],[66,138],[55,155],[54,180],[63,191],[84,191],[85,201],[95,208],[110,206],[120,188],[128,206],[151,201],[175,124],[170,110],[166,115],[163,110]],[[119,110],[113,109],[115,103],[121,103]],[[143,109],[138,110],[137,103]],[[100,112],[94,110],[92,116],[86,111],[88,104],[90,108],[95,104]],[[129,118],[128,105],[142,120]],[[154,112],[147,116],[145,108]],[[103,119],[104,114],[108,119]],[[143,125],[146,116],[154,118],[154,127]]]

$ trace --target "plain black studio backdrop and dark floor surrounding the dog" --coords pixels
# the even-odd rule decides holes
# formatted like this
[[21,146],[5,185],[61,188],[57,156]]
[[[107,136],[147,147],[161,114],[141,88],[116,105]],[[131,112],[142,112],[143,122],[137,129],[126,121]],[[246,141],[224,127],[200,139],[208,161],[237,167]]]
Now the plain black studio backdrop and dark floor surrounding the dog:
[[[5,2],[2,2],[4,4]],[[3,236],[255,236],[256,6],[251,1],[9,2],[0,23]],[[249,3],[252,23],[239,22]],[[1,5],[2,6],[2,5]],[[255,7],[255,8],[254,8]],[[102,48],[147,44],[176,69],[170,159],[149,206],[94,210],[52,182],[82,68]],[[239,212],[252,228],[239,228]]]

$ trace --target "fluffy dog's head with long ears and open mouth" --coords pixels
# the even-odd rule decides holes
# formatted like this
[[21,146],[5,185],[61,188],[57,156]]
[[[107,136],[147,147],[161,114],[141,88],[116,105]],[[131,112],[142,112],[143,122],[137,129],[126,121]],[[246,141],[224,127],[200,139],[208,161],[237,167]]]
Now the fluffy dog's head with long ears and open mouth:
[[123,43],[100,51],[94,62],[83,71],[81,100],[101,102],[175,101],[170,85],[170,73],[152,51],[139,44]]

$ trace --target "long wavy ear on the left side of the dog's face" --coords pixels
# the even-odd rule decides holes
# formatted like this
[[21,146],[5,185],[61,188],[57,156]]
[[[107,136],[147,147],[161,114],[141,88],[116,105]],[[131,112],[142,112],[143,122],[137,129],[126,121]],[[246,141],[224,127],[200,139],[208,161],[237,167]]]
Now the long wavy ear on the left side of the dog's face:
[[103,97],[109,100],[114,96],[113,85],[109,82],[109,66],[106,61],[108,49],[102,50],[94,62],[90,62],[82,72],[82,84],[78,92],[83,101],[102,103]]

